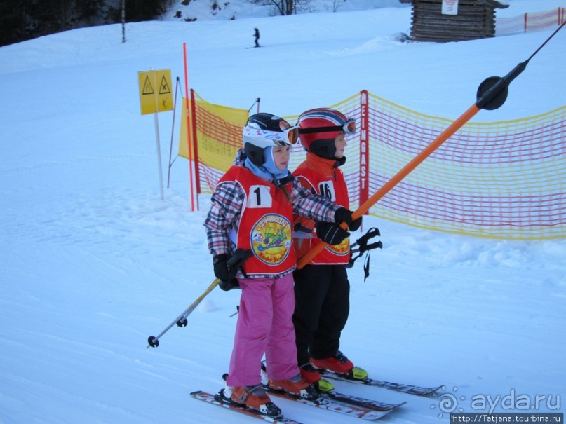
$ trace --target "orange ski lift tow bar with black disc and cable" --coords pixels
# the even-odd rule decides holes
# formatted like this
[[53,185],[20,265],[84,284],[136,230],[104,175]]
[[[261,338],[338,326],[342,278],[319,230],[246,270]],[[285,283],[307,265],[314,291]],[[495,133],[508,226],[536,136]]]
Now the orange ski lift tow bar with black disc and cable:
[[[381,189],[379,189],[370,198],[368,198],[368,200],[365,200],[365,202],[353,212],[352,221],[361,217],[363,214],[365,214],[365,212],[368,212],[368,210],[370,210],[370,207],[375,205],[375,203],[377,203],[379,199],[389,193],[389,191],[391,191],[394,186],[399,184],[399,182],[403,178],[407,177],[410,172],[415,170],[415,168],[419,166],[423,162],[423,160],[431,156],[433,151],[438,149],[438,147],[440,147],[447,139],[452,137],[452,135],[454,135],[454,132],[459,130],[481,109],[494,110],[501,107],[507,99],[508,85],[511,83],[511,81],[517,78],[517,76],[519,76],[521,72],[525,70],[532,57],[539,53],[539,50],[541,50],[541,48],[543,48],[544,45],[548,43],[548,41],[550,41],[550,39],[555,36],[555,34],[560,31],[560,29],[562,29],[565,24],[566,22],[562,23],[562,25],[560,25],[560,27],[558,27],[558,29],[556,29],[555,32],[553,32],[553,34],[551,34],[551,36],[549,36],[548,39],[546,39],[546,41],[544,41],[544,43],[542,43],[541,46],[539,46],[539,48],[537,48],[537,50],[527,60],[525,60],[525,62],[519,63],[506,76],[504,76],[503,78],[499,76],[490,76],[490,78],[485,79],[478,88],[476,103],[472,104],[471,107],[469,107],[469,109],[464,112],[464,114],[461,114],[461,116],[457,118],[456,121],[454,121],[448,128],[446,128],[440,135],[438,135],[438,137],[436,137],[436,139],[434,139],[431,144],[426,146],[420,153],[418,153],[415,158],[413,158],[409,163],[407,163],[407,165],[405,165],[405,167],[403,167],[403,169],[397,172],[396,175],[393,175],[393,177],[391,177],[391,179],[389,179],[389,181],[386,182],[381,187]],[[340,224],[340,227],[346,230],[348,228],[348,224],[346,224],[346,222],[342,222],[342,224]],[[326,246],[328,246],[328,243],[318,243],[318,245],[311,249],[309,253],[306,254],[297,263],[297,268],[300,269],[306,264],[309,264],[311,259],[316,257],[316,255],[320,253]]]

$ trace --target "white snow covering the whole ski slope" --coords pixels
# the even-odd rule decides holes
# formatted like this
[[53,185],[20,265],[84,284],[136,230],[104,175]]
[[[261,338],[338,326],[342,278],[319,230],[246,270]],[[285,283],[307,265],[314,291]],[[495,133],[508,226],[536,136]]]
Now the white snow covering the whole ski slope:
[[[499,16],[565,6],[508,3]],[[553,31],[400,43],[410,7],[384,6],[272,18],[248,9],[236,20],[128,24],[123,44],[121,26],[109,25],[0,48],[0,423],[250,422],[189,398],[222,387],[238,292],[213,290],[187,327],[147,348],[214,277],[202,226],[208,196],[190,211],[188,166],[177,159],[161,200],[154,118],[140,114],[137,72],[171,69],[183,81],[187,43],[190,86],[209,102],[247,109],[261,97],[262,111],[284,116],[366,89],[456,119],[483,79],[507,74]],[[265,47],[245,49],[254,27]],[[513,81],[506,104],[475,121],[565,104],[565,41],[559,32]],[[159,114],[164,172],[172,121]],[[475,396],[511,393],[550,398],[539,411],[565,410],[565,240],[471,238],[374,217],[370,226],[384,249],[372,253],[366,282],[361,260],[350,272],[346,355],[376,378],[445,384],[464,411],[476,411]],[[337,389],[406,400],[390,423],[447,421],[438,398]],[[303,423],[354,422],[276,402]],[[495,411],[508,410],[500,402]]]

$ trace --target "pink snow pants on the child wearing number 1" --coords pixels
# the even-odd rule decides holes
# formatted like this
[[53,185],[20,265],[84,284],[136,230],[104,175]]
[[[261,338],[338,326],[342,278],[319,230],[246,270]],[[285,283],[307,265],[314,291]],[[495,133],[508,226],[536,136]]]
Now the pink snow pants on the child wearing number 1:
[[242,294],[227,385],[261,383],[265,354],[270,379],[299,374],[292,314],[295,292],[292,273],[278,279],[238,279]]

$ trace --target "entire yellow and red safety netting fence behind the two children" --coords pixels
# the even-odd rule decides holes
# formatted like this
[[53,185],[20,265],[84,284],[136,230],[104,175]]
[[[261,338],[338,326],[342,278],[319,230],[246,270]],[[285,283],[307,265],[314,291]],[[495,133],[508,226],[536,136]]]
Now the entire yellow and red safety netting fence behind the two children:
[[[211,193],[241,146],[248,111],[219,107],[198,95],[194,104],[198,192]],[[342,167],[352,209],[452,123],[365,91],[330,107],[361,123],[362,130],[346,139],[347,160]],[[292,124],[297,120],[297,116],[285,118]],[[181,139],[182,144],[187,151],[187,138]],[[290,169],[302,160],[304,150],[293,146]],[[449,233],[537,240],[566,236],[565,207],[566,107],[562,107],[514,121],[466,123],[369,213]]]

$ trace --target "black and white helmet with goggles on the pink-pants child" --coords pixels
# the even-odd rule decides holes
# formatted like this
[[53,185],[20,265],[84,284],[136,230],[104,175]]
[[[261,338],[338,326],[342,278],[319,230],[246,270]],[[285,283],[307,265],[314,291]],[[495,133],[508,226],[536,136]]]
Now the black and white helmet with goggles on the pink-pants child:
[[299,135],[298,128],[292,127],[285,119],[265,113],[250,116],[242,133],[245,155],[257,166],[264,163],[266,147],[290,146],[297,142]]

